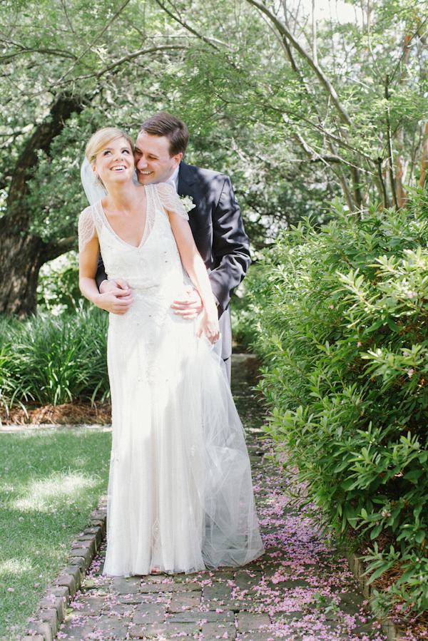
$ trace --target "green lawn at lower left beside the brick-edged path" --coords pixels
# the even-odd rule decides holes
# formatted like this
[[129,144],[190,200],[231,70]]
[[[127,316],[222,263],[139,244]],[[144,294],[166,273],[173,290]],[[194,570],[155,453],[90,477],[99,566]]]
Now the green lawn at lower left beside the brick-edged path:
[[20,638],[106,493],[111,433],[0,433],[0,639]]

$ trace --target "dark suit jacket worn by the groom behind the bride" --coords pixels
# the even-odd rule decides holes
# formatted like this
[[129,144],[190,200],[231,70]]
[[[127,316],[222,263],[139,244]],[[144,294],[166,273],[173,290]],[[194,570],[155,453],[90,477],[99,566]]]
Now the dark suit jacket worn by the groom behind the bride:
[[[230,297],[250,266],[250,242],[245,234],[230,178],[217,171],[180,163],[178,195],[191,196],[189,224],[196,247],[207,267],[213,294],[218,301],[221,357],[232,354]],[[102,259],[98,262],[98,288],[106,279]]]

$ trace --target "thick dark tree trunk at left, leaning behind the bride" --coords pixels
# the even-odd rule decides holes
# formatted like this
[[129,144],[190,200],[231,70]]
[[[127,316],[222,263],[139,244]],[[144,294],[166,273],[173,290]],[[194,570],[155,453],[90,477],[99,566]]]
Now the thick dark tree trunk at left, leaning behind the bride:
[[86,103],[78,96],[59,94],[49,118],[40,123],[26,143],[9,188],[6,213],[0,219],[0,314],[24,316],[35,312],[39,270],[68,250],[66,242],[46,243],[29,232],[31,212],[29,170],[36,167],[37,151],[49,153],[52,140],[61,133],[72,113],[83,111]]

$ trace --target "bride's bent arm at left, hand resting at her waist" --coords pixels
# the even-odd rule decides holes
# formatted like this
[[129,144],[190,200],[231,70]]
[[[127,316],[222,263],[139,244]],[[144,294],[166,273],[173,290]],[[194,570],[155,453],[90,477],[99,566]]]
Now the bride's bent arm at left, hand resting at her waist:
[[120,298],[113,292],[101,294],[95,281],[98,267],[98,256],[100,245],[98,237],[86,243],[85,248],[78,255],[78,284],[84,297],[96,304],[97,307],[105,309],[113,314],[126,314],[133,304],[133,297]]

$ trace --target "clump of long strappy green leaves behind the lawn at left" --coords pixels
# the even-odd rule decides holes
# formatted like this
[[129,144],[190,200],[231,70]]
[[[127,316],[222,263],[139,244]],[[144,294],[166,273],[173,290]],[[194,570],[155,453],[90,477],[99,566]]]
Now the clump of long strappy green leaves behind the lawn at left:
[[[0,399],[53,405],[79,397],[108,396],[108,314],[78,310],[55,317],[39,313],[22,322],[1,321]],[[4,361],[1,361],[3,354]]]

